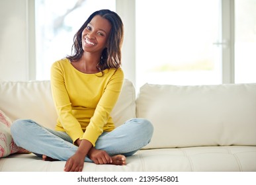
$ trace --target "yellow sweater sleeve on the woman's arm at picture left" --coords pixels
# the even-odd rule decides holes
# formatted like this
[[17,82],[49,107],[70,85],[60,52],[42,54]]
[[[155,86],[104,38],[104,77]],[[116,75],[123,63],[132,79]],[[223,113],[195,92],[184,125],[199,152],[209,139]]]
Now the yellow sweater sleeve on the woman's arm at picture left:
[[55,62],[51,68],[51,87],[58,119],[74,142],[83,135],[83,130],[72,114],[71,102],[65,88],[64,71],[58,62]]

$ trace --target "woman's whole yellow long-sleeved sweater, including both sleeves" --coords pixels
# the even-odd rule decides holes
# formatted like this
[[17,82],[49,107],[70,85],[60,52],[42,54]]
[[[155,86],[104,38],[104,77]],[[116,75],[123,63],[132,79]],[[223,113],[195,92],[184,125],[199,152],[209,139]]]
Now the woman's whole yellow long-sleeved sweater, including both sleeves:
[[65,131],[73,141],[87,139],[93,146],[103,131],[112,131],[110,112],[120,94],[124,73],[105,69],[102,73],[81,73],[69,59],[53,63],[52,96],[58,112],[56,130]]

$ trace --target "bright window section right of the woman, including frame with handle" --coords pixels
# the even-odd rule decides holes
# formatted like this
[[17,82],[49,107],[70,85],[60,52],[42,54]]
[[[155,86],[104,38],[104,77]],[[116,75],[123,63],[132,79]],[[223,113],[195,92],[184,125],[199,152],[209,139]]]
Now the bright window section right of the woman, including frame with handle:
[[136,1],[136,87],[256,82],[256,0]]

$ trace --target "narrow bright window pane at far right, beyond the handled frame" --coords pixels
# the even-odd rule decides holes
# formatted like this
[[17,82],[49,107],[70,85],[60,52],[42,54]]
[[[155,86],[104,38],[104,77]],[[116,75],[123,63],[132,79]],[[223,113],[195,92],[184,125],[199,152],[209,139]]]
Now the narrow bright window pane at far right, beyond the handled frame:
[[235,0],[235,83],[256,83],[256,1]]

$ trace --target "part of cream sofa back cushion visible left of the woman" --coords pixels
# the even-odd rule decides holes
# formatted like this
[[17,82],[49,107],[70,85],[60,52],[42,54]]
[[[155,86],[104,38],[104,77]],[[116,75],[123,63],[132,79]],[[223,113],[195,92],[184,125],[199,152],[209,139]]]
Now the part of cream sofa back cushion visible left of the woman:
[[0,109],[12,121],[31,119],[47,128],[55,127],[57,113],[50,81],[1,82],[0,102]]

